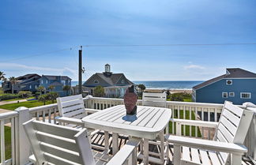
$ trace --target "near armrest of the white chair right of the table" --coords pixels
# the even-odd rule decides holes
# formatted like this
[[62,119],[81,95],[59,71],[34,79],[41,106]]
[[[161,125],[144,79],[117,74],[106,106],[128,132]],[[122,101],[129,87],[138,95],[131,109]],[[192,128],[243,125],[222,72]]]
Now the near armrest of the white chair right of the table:
[[203,139],[195,139],[190,137],[179,137],[168,135],[165,138],[176,145],[206,149],[216,152],[228,152],[242,155],[247,152],[247,148],[243,144],[226,143],[220,141],[208,141]]

